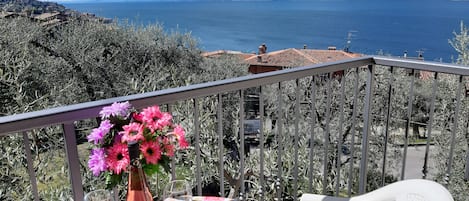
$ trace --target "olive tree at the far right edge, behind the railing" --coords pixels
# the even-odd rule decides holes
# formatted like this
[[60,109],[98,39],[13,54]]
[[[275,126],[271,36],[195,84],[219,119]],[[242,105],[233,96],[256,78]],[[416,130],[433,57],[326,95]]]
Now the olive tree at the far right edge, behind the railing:
[[[463,22],[461,22],[460,32],[454,32],[454,38],[449,40],[449,44],[458,53],[456,63],[462,65],[469,65],[469,29]],[[467,90],[468,80],[463,78],[462,89]],[[449,100],[442,101],[440,107],[447,108],[446,111],[454,111],[456,108],[455,97],[457,94],[462,94],[461,98],[461,112],[459,118],[455,119],[454,112],[442,111],[437,116],[437,120],[442,122],[439,124],[441,134],[435,136],[437,151],[434,154],[436,160],[436,167],[438,173],[436,178],[448,185],[448,189],[454,196],[455,200],[467,200],[469,197],[469,181],[467,180],[467,161],[469,161],[469,101],[468,97],[464,97],[466,93],[458,91],[459,77],[458,76],[447,76],[439,82],[440,93],[442,97],[451,97]],[[458,127],[455,127],[454,123],[457,121]],[[454,153],[453,158],[450,159],[450,149],[452,133],[454,136]],[[451,164],[451,175],[447,175],[449,161],[452,160]],[[449,177],[450,176],[450,177]]]

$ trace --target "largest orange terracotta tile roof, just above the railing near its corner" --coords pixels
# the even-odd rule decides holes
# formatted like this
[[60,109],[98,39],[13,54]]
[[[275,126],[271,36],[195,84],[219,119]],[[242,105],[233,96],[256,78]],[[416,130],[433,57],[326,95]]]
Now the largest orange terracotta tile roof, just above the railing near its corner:
[[[258,58],[260,56],[260,59]],[[341,50],[285,49],[261,55],[253,55],[245,61],[250,65],[295,67],[340,61],[360,57],[360,54]]]

